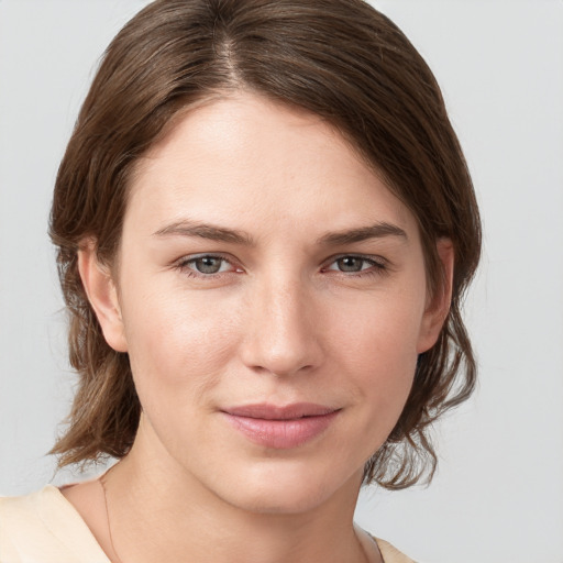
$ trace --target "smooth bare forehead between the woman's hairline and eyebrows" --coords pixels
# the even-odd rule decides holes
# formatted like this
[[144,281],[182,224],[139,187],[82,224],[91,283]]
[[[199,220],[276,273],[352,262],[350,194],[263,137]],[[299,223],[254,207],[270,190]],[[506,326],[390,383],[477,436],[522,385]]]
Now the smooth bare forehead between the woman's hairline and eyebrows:
[[175,118],[137,163],[128,216],[139,213],[147,224],[186,213],[220,223],[260,218],[272,230],[413,224],[332,125],[250,93],[210,99]]

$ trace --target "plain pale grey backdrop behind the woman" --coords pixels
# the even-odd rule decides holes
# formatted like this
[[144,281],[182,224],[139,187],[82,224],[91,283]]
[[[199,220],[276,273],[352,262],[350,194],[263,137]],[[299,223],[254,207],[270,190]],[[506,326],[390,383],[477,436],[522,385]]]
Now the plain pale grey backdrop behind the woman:
[[[53,481],[75,378],[47,240],[53,183],[99,56],[142,0],[0,0],[0,494]],[[435,429],[429,488],[357,520],[421,562],[563,562],[563,2],[374,0],[434,70],[475,181],[474,398]]]

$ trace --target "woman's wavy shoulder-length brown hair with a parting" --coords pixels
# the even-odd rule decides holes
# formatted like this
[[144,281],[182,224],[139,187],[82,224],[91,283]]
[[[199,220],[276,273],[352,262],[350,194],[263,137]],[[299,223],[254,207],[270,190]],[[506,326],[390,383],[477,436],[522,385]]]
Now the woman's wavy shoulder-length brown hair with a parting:
[[77,267],[93,238],[111,264],[137,158],[183,108],[246,89],[316,113],[383,175],[418,220],[432,290],[435,241],[450,238],[451,309],[437,344],[419,356],[405,409],[365,467],[388,488],[431,478],[427,431],[475,385],[461,299],[477,266],[475,195],[435,79],[410,42],[362,0],[157,0],[108,47],[60,164],[51,216],[70,317],[69,357],[80,375],[59,465],[122,457],[141,412],[126,354],[104,341]]

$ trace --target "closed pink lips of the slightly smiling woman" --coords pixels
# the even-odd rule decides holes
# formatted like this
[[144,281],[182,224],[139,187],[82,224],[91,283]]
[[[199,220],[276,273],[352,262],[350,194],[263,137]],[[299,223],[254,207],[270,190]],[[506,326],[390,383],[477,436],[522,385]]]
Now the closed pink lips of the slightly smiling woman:
[[251,442],[265,448],[287,450],[297,448],[321,434],[340,409],[299,402],[245,405],[223,410],[229,422]]

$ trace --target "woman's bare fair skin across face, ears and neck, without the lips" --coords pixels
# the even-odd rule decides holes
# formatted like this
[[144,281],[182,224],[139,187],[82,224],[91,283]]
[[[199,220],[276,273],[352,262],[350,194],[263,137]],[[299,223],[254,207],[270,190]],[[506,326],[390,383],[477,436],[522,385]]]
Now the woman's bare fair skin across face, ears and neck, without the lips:
[[[415,217],[320,118],[247,92],[186,111],[139,162],[115,267],[91,241],[79,254],[143,406],[106,481],[113,542],[101,487],[64,489],[110,558],[379,561],[353,511],[448,312],[437,244],[446,283],[429,296]],[[225,420],[301,401],[336,415],[294,448]]]

